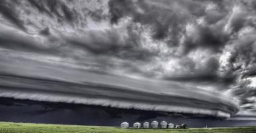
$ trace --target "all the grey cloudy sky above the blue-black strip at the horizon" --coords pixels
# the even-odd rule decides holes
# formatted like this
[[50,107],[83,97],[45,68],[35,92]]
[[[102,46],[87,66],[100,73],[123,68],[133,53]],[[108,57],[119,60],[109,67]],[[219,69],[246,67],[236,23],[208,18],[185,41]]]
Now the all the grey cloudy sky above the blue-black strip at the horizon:
[[[255,124],[253,0],[2,0],[0,29],[0,97],[7,103]],[[25,108],[5,102],[1,112]]]

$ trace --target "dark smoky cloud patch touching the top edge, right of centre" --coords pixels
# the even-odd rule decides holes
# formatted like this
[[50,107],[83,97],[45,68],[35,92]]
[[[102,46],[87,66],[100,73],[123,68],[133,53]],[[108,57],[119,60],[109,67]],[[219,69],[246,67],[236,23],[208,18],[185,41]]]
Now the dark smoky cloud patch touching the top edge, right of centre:
[[135,23],[151,26],[154,39],[171,36],[174,45],[177,43],[177,37],[180,37],[176,34],[177,30],[181,30],[180,27],[185,22],[182,13],[177,15],[171,9],[150,5],[146,1],[109,1],[109,13],[113,24],[117,24],[122,17],[131,16]]

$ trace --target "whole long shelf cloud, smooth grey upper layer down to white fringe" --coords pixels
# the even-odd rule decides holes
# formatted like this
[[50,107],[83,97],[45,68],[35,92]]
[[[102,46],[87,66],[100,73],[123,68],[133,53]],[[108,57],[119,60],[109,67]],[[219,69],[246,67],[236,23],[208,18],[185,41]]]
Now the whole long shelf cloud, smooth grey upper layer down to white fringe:
[[[219,93],[216,97],[215,92],[195,91],[197,88],[191,90],[187,88],[189,86],[179,86],[175,82],[135,80],[59,63],[31,63],[25,59],[19,62],[22,58],[13,58],[1,58],[0,72],[4,72],[1,72],[0,94],[3,97],[205,114],[221,118],[229,117],[238,110],[232,100],[219,96]],[[214,108],[208,108],[209,104],[214,104]]]

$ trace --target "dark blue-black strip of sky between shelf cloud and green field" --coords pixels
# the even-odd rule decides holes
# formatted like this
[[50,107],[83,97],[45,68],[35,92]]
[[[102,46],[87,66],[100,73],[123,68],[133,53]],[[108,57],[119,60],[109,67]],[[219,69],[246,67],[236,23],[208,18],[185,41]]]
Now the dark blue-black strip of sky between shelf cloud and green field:
[[254,120],[225,120],[213,116],[175,114],[136,109],[121,109],[65,102],[39,102],[0,98],[0,121],[44,124],[78,124],[87,126],[119,126],[121,122],[171,122],[189,128],[255,126]]

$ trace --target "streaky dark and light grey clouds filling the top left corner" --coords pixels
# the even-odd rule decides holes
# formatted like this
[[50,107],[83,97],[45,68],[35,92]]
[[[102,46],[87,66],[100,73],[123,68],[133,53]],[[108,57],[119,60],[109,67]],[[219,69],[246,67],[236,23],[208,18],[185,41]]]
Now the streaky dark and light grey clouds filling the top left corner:
[[[106,13],[103,13],[101,7],[89,9],[88,7],[90,7],[89,4],[91,3],[88,1],[79,1],[79,3],[81,4],[81,8],[73,7],[74,1],[27,0],[21,2],[4,0],[0,3],[0,13],[7,21],[13,23],[13,25],[22,31],[29,33],[31,27],[39,28],[41,26],[38,25],[39,23],[48,23],[49,19],[51,19],[51,22],[62,25],[63,27],[69,25],[73,28],[81,29],[87,26],[87,19],[89,18],[93,21],[100,21],[101,19],[107,18]],[[95,3],[93,4],[97,5]],[[35,19],[33,19],[35,16],[33,15],[38,15],[37,23],[33,23],[35,22]],[[47,26],[51,29],[54,23]]]

